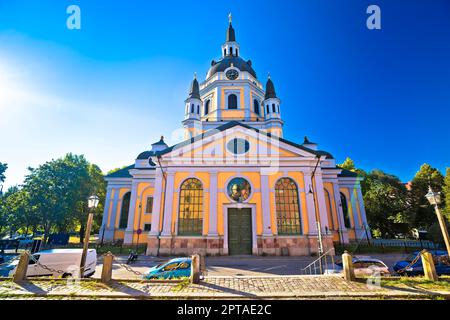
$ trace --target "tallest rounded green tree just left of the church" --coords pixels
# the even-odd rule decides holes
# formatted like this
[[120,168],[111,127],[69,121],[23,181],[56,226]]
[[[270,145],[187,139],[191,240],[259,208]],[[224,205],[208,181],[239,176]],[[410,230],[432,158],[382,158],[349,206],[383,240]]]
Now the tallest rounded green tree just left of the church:
[[51,231],[67,232],[84,226],[88,196],[92,192],[104,195],[100,169],[84,156],[69,153],[29,171],[24,190],[44,229],[44,240]]

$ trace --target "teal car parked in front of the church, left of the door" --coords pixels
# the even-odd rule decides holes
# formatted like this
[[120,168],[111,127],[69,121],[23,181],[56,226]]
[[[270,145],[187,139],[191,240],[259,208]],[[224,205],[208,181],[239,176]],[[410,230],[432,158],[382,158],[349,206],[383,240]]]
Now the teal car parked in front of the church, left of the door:
[[175,258],[150,268],[144,279],[176,279],[191,276],[191,258]]

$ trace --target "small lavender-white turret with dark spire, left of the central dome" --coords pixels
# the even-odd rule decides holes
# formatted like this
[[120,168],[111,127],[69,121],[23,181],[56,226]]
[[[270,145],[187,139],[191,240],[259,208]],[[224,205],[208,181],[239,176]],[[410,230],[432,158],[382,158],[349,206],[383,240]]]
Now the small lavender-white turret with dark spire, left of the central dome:
[[201,112],[203,109],[203,102],[200,98],[200,86],[197,81],[197,74],[192,80],[189,96],[185,100],[185,114],[184,114],[184,138],[189,139],[201,133]]

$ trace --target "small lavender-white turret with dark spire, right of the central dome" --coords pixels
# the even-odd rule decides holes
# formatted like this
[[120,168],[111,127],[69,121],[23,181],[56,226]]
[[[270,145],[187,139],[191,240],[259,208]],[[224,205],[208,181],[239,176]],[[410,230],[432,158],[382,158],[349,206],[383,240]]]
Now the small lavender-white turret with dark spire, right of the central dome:
[[281,120],[280,103],[281,101],[277,97],[275,86],[269,74],[266,83],[266,94],[264,96],[263,106],[264,113],[266,115],[266,121],[273,120],[271,121],[271,125],[267,131],[278,137],[283,136],[283,121]]

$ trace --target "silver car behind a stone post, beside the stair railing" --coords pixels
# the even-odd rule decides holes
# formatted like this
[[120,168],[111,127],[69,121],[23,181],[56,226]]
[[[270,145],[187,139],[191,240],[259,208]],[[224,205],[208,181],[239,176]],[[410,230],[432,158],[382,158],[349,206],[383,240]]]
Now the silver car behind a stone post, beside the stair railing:
[[[352,259],[355,275],[358,276],[372,276],[379,274],[382,277],[390,276],[388,266],[381,260],[368,256],[355,256]],[[342,261],[337,262],[334,267],[327,266],[324,274],[341,274],[343,273]]]

